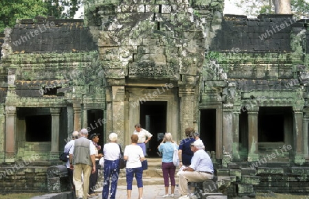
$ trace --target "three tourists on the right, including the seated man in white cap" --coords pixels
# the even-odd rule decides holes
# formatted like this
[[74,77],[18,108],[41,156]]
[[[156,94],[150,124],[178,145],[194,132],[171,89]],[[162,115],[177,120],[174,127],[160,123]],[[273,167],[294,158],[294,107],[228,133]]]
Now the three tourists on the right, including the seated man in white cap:
[[[176,167],[173,163],[174,148],[179,150],[179,198],[197,198],[194,194],[195,183],[214,178],[212,161],[207,152],[205,152],[205,145],[199,138],[198,132],[195,132],[193,128],[186,128],[185,135],[186,138],[181,140],[178,146],[172,140],[172,134],[167,132],[158,146],[158,150],[162,154],[162,171],[165,187],[163,198],[174,198],[176,185]],[[171,194],[168,194],[169,180],[171,182]],[[188,183],[190,183],[189,187]]]

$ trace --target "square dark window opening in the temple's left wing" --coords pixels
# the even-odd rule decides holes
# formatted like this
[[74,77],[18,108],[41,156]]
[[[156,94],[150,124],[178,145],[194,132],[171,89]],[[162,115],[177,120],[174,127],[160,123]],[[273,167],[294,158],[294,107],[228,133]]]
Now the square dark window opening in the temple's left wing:
[[52,116],[25,116],[26,141],[52,141]]

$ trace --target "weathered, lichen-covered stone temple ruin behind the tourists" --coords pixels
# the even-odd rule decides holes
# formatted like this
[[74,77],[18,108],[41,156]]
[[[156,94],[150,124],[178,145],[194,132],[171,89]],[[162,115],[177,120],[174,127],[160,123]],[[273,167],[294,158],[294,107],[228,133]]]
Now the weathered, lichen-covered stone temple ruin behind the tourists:
[[[222,15],[222,0],[87,1],[84,20],[23,19],[0,59],[1,191],[47,191],[73,130],[138,122],[201,134],[229,197],[308,194],[308,20]],[[5,179],[5,180],[4,180]],[[18,181],[16,181],[18,180]]]

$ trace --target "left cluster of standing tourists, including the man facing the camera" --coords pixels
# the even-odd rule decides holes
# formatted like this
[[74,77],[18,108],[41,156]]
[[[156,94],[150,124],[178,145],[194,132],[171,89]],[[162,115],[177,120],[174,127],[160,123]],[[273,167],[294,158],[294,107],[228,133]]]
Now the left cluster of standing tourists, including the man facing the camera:
[[[87,199],[98,196],[95,193],[95,185],[98,182],[99,161],[104,157],[104,183],[102,199],[115,199],[119,177],[119,157],[122,153],[121,146],[117,143],[117,134],[109,134],[109,142],[104,144],[103,154],[100,154],[101,146],[98,145],[100,134],[91,134],[88,138],[87,129],[83,128],[72,133],[72,140],[65,145],[65,152],[69,152],[67,169],[70,183],[76,192],[76,198]],[[127,194],[130,199],[132,183],[135,176],[139,189],[139,199],[143,195],[143,168],[141,162],[145,161],[146,143],[152,134],[135,125],[135,131],[131,136],[131,144],[124,149],[126,160]],[[146,139],[147,138],[147,139]]]

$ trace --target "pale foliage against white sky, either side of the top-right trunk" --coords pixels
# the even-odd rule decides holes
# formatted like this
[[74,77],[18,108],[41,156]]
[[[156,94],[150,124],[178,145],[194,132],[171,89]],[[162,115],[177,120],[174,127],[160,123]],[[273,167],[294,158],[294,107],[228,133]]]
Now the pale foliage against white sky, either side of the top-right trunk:
[[[282,1],[282,0],[281,0]],[[272,0],[240,0],[235,4],[251,17],[259,14],[275,14],[275,5]],[[297,19],[309,17],[309,3],[306,0],[290,0],[292,14]]]

